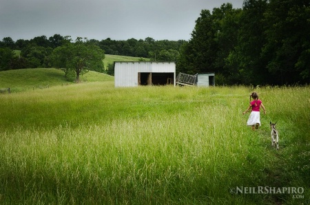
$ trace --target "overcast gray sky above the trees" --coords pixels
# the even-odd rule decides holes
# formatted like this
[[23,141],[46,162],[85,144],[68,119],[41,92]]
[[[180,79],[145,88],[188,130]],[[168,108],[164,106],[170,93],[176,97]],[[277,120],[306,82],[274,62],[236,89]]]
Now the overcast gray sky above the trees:
[[243,0],[0,0],[0,40],[189,40],[201,10],[223,3],[242,8]]

